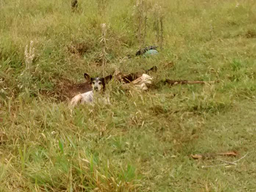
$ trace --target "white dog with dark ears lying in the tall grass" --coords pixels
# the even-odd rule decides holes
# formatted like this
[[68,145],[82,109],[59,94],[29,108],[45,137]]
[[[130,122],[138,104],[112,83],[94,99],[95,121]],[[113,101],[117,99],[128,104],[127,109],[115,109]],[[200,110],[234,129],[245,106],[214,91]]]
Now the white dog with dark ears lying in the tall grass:
[[[106,77],[90,77],[87,73],[83,74],[84,78],[90,82],[92,85],[92,90],[86,93],[78,94],[70,102],[72,107],[76,106],[78,103],[88,103],[93,105],[95,100],[95,94],[100,93],[103,97],[105,96],[106,84],[112,79],[112,75]],[[104,104],[110,104],[109,97],[103,98]]]

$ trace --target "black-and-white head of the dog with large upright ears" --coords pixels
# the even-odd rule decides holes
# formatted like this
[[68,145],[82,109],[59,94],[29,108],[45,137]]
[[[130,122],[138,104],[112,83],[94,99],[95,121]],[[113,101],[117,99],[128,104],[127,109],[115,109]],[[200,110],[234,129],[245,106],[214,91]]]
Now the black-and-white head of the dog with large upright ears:
[[90,75],[84,73],[83,76],[92,84],[94,91],[104,91],[105,85],[112,79],[112,75],[106,77],[90,77]]

